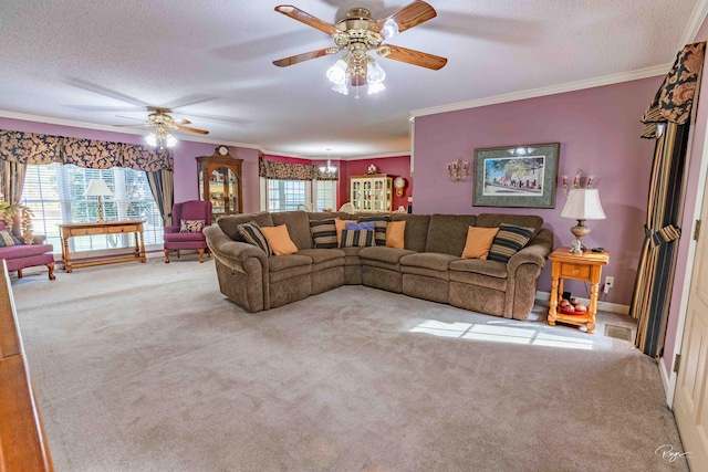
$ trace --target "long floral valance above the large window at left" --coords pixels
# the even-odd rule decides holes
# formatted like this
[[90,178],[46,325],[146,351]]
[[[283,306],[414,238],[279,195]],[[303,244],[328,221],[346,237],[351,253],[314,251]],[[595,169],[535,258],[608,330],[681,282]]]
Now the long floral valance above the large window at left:
[[0,129],[0,160],[73,164],[88,169],[171,170],[173,154],[146,146]]

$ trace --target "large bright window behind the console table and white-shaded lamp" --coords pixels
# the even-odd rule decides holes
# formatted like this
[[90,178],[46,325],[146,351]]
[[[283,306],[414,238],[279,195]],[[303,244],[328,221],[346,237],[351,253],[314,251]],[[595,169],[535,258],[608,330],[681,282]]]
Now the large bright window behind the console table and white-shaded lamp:
[[[65,222],[94,222],[97,220],[97,199],[84,197],[92,179],[103,179],[113,190],[113,197],[103,198],[107,221],[145,221],[145,244],[163,242],[163,218],[142,170],[121,167],[85,169],[73,165],[28,165],[22,191],[22,203],[34,213],[35,234],[46,235],[46,242],[61,252],[58,224]],[[131,247],[129,234],[71,238],[71,251],[87,251]]]

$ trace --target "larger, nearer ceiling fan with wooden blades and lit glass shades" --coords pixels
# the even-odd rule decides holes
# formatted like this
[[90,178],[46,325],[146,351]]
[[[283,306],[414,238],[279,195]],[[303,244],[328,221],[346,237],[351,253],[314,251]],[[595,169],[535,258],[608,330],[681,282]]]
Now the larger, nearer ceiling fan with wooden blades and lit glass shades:
[[[348,93],[347,82],[354,87],[368,84],[369,94],[385,88],[383,82],[386,73],[367,54],[368,51],[376,51],[382,57],[435,71],[447,63],[447,59],[434,54],[394,44],[384,44],[384,41],[396,34],[417,27],[437,15],[435,9],[423,0],[416,0],[394,14],[378,21],[372,19],[371,12],[365,8],[352,8],[346,12],[346,18],[337,21],[335,25],[289,4],[275,7],[275,11],[327,33],[334,40],[335,45],[273,61],[273,64],[279,67],[285,67],[346,50],[347,54],[327,71],[327,77],[333,83],[332,90],[344,95]],[[358,92],[356,97],[358,98]]]

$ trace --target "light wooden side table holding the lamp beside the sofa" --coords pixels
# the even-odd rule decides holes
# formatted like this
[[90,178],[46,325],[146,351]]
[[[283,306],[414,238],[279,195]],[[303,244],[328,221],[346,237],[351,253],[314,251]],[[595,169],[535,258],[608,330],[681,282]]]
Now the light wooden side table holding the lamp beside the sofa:
[[[610,262],[610,253],[584,252],[572,254],[570,248],[556,248],[549,259],[553,261],[551,274],[551,301],[549,302],[549,325],[555,322],[585,326],[589,334],[595,333],[595,315],[597,314],[597,293],[602,279],[602,266]],[[563,296],[563,280],[575,279],[590,282],[590,306],[584,315],[566,315],[558,311],[558,303]]]

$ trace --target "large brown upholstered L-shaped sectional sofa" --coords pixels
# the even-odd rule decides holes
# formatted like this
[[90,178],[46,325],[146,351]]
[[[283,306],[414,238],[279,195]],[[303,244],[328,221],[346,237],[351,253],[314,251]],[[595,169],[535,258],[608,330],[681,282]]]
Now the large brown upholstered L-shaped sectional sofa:
[[[220,218],[205,228],[221,293],[249,312],[275,308],[345,284],[403,293],[479,313],[527,319],[533,308],[541,269],[553,233],[534,216],[405,214],[405,249],[384,247],[314,249],[310,220],[357,216],[290,211]],[[238,224],[285,224],[298,252],[271,255],[243,241]],[[461,259],[468,227],[501,223],[535,229],[528,244],[507,263]]]

